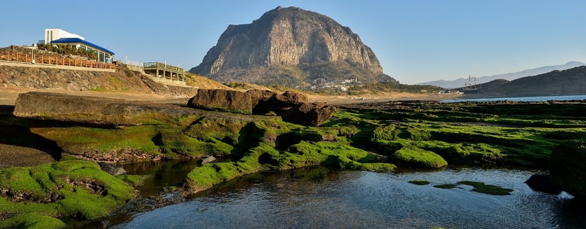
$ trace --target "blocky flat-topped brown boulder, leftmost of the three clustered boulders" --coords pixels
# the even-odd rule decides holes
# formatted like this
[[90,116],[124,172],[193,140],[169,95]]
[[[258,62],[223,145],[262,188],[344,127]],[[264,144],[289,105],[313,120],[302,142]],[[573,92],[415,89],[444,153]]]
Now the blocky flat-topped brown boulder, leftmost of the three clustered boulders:
[[199,89],[197,95],[189,99],[187,106],[204,110],[252,114],[250,94],[242,91]]

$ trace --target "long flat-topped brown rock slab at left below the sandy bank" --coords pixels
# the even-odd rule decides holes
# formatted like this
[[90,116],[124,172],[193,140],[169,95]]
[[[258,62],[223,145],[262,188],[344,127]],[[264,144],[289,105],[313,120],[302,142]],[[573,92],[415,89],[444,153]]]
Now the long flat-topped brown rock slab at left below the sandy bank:
[[29,119],[66,121],[95,125],[156,124],[163,115],[191,115],[195,109],[173,104],[153,104],[104,97],[29,92],[16,99],[13,115]]

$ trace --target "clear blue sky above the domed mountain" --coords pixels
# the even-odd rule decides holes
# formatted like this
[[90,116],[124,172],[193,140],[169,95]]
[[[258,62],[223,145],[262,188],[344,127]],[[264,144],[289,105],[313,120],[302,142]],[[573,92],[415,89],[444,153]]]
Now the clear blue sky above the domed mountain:
[[350,27],[404,84],[586,62],[584,0],[5,1],[0,47],[30,45],[45,28],[60,28],[119,60],[191,69],[228,25],[279,5]]

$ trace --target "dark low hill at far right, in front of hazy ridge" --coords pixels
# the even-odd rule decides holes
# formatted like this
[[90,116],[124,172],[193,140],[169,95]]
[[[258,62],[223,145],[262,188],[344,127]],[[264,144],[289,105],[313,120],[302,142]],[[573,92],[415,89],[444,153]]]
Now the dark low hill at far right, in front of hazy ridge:
[[[478,97],[586,95],[586,66],[478,85]],[[459,88],[463,90],[463,88]]]

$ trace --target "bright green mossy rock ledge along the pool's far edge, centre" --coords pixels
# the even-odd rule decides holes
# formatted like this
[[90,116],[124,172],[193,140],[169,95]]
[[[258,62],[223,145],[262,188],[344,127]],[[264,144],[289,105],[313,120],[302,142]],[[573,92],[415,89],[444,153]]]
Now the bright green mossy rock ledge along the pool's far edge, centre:
[[195,193],[215,184],[257,171],[294,169],[323,165],[334,169],[393,171],[395,165],[349,145],[302,141],[288,150],[260,143],[237,162],[217,162],[197,167],[188,173],[185,186]]

